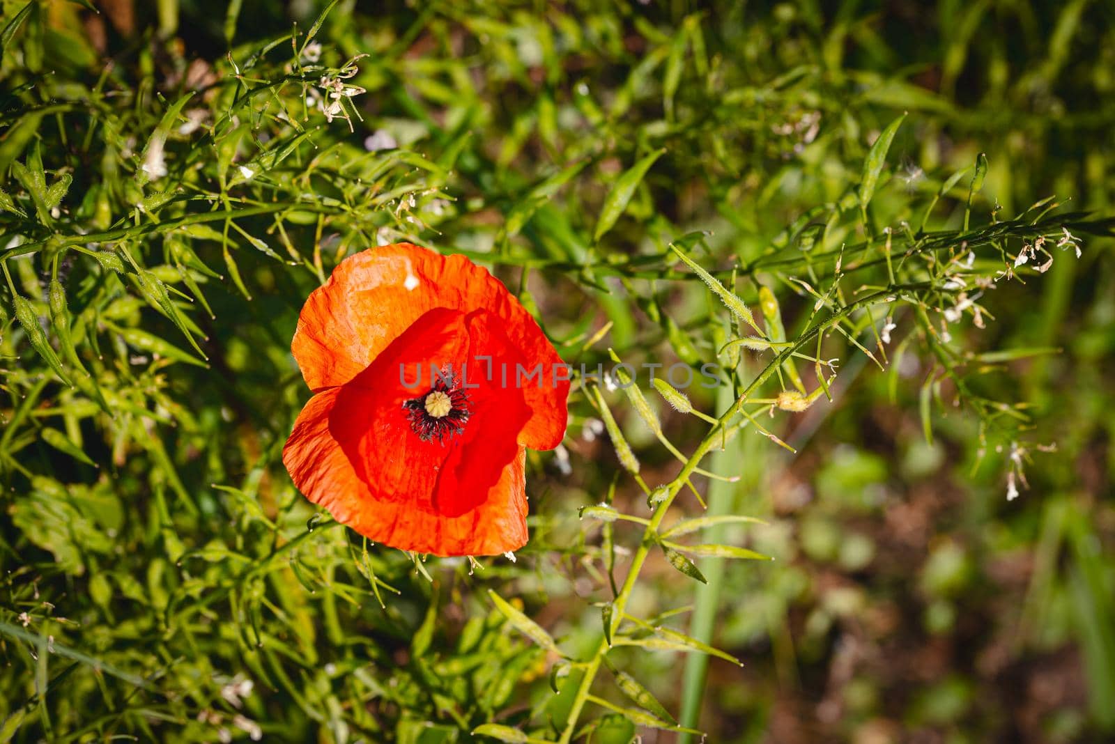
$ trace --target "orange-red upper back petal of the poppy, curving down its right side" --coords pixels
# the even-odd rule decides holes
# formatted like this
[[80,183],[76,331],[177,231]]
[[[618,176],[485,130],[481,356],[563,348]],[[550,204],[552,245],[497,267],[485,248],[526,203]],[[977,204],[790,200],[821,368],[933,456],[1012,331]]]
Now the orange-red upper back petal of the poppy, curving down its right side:
[[565,435],[569,381],[542,329],[507,288],[462,255],[409,243],[349,256],[314,290],[298,319],[291,351],[310,390],[342,385],[362,372],[395,339],[436,307],[486,310],[503,320],[526,370],[542,368],[542,384],[524,385],[532,415],[518,443],[550,450]]

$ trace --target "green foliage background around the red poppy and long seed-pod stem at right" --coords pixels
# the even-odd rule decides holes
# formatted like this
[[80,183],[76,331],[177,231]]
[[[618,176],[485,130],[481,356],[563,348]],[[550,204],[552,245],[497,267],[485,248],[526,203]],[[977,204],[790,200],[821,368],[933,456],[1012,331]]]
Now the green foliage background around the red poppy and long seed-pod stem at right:
[[[593,603],[611,594],[601,526],[576,510],[614,489],[643,513],[643,495],[578,389],[563,450],[531,454],[532,540],[515,564],[416,564],[316,516],[279,459],[308,398],[288,350],[346,254],[465,251],[571,363],[608,362],[608,347],[690,362],[716,358],[724,313],[671,272],[666,244],[710,231],[700,258],[725,280],[792,255],[793,271],[760,278],[803,327],[813,298],[786,277],[813,271],[815,239],[863,239],[843,200],[902,112],[874,229],[912,234],[925,215],[959,234],[971,172],[934,196],[980,153],[975,225],[1050,196],[1115,212],[1109,2],[333,6],[318,26],[309,0],[3,0],[2,737],[561,731],[556,657],[510,633],[484,589],[590,652]],[[331,86],[351,95],[336,104]],[[618,176],[659,148],[600,234]],[[767,521],[718,540],[776,560],[701,560],[695,595],[655,559],[629,606],[694,605],[675,627],[746,666],[633,648],[617,666],[711,742],[1111,741],[1115,262],[1111,237],[1079,237],[1079,260],[988,290],[986,329],[951,330],[972,353],[1058,350],[981,383],[1028,403],[1025,439],[981,439],[947,383],[931,400],[934,362],[909,317],[886,371],[831,354],[833,402],[767,424],[797,454],[747,435],[704,463],[741,476],[700,486],[711,510]],[[90,376],[59,340],[52,276]],[[739,288],[756,309],[757,287]],[[37,354],[13,290],[75,388]],[[709,411],[727,395],[692,392]],[[643,480],[672,478],[628,400],[608,400]],[[702,424],[652,404],[690,451]],[[1008,501],[1011,441],[1028,488]],[[611,679],[598,694],[619,703]],[[603,713],[584,718],[591,741],[681,737]]]

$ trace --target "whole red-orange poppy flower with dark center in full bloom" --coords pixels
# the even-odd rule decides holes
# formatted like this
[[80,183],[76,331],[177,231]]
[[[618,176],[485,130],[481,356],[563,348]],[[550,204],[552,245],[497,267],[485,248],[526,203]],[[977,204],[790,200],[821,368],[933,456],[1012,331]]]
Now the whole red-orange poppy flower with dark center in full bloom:
[[487,271],[409,243],[350,256],[306,301],[291,351],[314,395],[283,463],[307,498],[404,550],[526,544],[525,448],[561,442],[569,375]]

